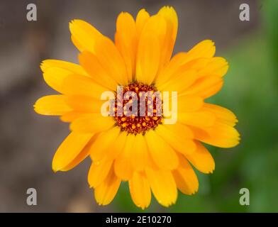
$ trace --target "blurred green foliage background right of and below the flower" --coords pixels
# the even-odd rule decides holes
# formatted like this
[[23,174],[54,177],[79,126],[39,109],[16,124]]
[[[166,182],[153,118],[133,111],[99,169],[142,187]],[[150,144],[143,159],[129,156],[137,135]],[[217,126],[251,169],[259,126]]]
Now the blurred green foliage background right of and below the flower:
[[[208,100],[238,116],[240,145],[209,147],[216,170],[212,175],[196,171],[199,192],[179,194],[177,203],[168,209],[152,197],[147,212],[278,211],[278,1],[261,5],[262,28],[221,53],[230,68],[221,92]],[[250,206],[240,206],[241,188],[250,190]],[[113,207],[115,211],[142,211],[131,201],[127,183],[121,185]]]

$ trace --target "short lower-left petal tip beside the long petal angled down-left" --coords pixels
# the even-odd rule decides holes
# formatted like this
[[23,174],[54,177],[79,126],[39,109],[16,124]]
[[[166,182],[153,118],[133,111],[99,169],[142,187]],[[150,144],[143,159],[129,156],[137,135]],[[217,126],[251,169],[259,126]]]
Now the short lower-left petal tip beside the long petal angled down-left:
[[93,162],[91,164],[88,173],[88,183],[90,187],[98,187],[99,184],[104,182],[109,171],[111,170],[111,165],[113,160],[107,160],[106,157],[102,158],[100,161]]

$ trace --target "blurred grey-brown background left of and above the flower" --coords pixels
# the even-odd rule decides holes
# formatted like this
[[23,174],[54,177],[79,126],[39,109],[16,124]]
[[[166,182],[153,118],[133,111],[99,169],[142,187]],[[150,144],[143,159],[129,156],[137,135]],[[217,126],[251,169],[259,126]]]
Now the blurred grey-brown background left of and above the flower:
[[[0,2],[0,211],[101,212],[87,184],[89,159],[70,172],[52,172],[55,150],[69,133],[57,117],[39,116],[33,104],[54,94],[43,81],[40,62],[60,59],[77,62],[68,23],[81,18],[113,38],[118,13],[133,16],[145,8],[156,13],[174,6],[179,16],[175,52],[189,50],[204,39],[216,42],[216,55],[233,47],[247,33],[260,29],[260,6],[250,4],[252,20],[238,19],[239,0],[196,1],[9,1]],[[38,21],[26,20],[26,6],[38,7]],[[26,190],[37,189],[38,205],[26,204]]]

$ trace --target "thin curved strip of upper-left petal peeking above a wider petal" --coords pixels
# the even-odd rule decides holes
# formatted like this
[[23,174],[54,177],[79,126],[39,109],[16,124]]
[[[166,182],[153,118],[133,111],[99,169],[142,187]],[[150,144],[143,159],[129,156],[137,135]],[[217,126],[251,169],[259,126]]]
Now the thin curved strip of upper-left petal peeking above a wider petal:
[[59,68],[62,70],[67,70],[72,74],[80,74],[80,75],[88,76],[87,72],[85,72],[80,65],[74,64],[72,62],[48,59],[48,60],[43,60],[43,62],[40,64],[40,69],[43,72],[47,72],[51,68]]

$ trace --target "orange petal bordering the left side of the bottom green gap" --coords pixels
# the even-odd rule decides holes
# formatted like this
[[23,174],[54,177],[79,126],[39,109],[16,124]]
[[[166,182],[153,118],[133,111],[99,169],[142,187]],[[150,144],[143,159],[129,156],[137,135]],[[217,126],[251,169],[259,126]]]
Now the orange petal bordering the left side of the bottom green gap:
[[96,199],[96,202],[99,205],[110,204],[116,196],[120,184],[121,180],[116,177],[112,167],[104,182],[99,184],[99,186],[94,189],[94,197]]

